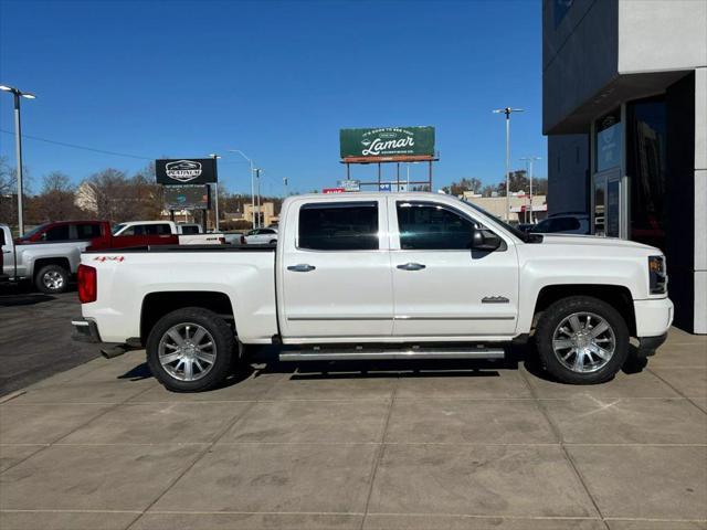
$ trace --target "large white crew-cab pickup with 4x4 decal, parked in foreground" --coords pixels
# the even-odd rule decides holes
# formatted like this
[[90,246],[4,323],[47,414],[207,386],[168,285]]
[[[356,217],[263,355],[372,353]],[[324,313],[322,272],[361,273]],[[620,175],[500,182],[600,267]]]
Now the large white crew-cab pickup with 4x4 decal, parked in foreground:
[[[276,247],[85,253],[78,340],[144,346],[168,389],[217,386],[249,344],[282,360],[503,358],[535,337],[567,383],[643,360],[673,320],[661,251],[525,234],[433,193],[299,195]],[[630,338],[639,346],[630,356]]]

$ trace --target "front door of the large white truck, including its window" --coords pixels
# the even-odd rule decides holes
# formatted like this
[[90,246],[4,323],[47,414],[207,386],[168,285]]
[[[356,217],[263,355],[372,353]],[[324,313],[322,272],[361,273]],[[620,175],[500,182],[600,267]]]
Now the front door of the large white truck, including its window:
[[390,198],[388,208],[393,335],[443,340],[514,335],[518,259],[513,240],[505,236],[495,252],[473,252],[472,231],[482,225],[469,206]]

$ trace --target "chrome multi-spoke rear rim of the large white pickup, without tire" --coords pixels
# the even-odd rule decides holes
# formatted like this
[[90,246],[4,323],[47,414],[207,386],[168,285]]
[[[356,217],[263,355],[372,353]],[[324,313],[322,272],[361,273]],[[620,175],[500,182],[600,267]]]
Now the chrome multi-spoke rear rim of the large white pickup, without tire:
[[213,368],[217,348],[213,337],[198,324],[183,322],[169,328],[158,349],[159,363],[179,381],[197,381]]

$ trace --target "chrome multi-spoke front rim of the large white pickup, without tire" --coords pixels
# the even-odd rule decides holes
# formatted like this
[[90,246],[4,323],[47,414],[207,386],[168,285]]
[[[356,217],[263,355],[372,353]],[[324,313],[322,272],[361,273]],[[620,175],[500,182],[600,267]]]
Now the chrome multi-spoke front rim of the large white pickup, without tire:
[[593,312],[574,312],[552,333],[552,350],[562,365],[577,373],[590,373],[606,365],[616,349],[609,322]]

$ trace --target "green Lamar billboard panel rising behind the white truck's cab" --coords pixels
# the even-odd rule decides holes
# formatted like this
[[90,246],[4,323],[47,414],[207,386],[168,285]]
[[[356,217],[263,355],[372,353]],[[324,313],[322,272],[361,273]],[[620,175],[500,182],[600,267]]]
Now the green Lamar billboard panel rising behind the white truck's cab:
[[341,129],[339,147],[345,162],[431,160],[434,127]]

